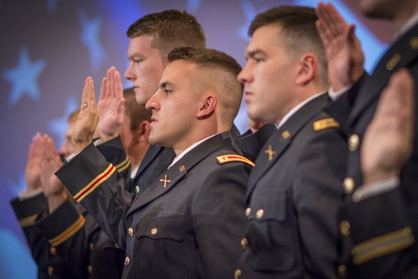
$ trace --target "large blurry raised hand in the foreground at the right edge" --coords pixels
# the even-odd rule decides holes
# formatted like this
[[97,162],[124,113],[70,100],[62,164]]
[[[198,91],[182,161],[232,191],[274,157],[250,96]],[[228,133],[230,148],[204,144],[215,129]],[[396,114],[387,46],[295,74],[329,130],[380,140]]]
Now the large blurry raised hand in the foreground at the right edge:
[[393,74],[377,103],[361,145],[363,184],[397,178],[412,153],[414,82],[407,69]]

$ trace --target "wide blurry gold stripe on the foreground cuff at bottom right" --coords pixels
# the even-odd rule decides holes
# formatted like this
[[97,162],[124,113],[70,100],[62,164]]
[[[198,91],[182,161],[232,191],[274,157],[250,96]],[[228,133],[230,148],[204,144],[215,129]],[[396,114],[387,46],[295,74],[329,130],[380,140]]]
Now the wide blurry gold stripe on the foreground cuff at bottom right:
[[362,264],[374,258],[402,250],[411,246],[414,241],[410,227],[374,237],[353,247],[351,250],[353,263]]

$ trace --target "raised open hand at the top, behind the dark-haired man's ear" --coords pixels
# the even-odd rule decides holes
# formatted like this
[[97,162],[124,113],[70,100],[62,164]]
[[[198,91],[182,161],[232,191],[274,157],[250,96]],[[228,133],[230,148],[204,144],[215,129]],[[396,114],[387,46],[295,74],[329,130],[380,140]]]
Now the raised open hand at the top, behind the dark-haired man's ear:
[[332,4],[319,3],[316,8],[319,36],[325,48],[328,79],[333,90],[338,91],[354,84],[364,74],[364,54],[349,25]]

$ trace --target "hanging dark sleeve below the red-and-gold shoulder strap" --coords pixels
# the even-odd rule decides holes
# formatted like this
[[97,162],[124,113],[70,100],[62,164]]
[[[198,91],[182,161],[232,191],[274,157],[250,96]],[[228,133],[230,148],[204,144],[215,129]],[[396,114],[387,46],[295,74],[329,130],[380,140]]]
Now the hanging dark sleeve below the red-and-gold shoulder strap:
[[250,167],[237,162],[217,167],[203,182],[192,208],[201,263],[198,270],[205,278],[232,278],[241,254]]

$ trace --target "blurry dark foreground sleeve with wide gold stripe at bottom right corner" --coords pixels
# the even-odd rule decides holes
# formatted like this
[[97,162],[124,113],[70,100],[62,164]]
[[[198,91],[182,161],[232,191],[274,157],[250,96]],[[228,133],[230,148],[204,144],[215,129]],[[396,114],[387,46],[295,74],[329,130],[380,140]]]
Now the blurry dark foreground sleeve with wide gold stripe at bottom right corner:
[[343,252],[352,256],[347,269],[349,277],[368,274],[373,278],[407,278],[408,273],[416,276],[418,270],[411,268],[415,239],[404,204],[400,187],[359,202],[347,200],[339,221],[349,225],[350,233],[342,235],[347,244],[343,247],[348,250]]

